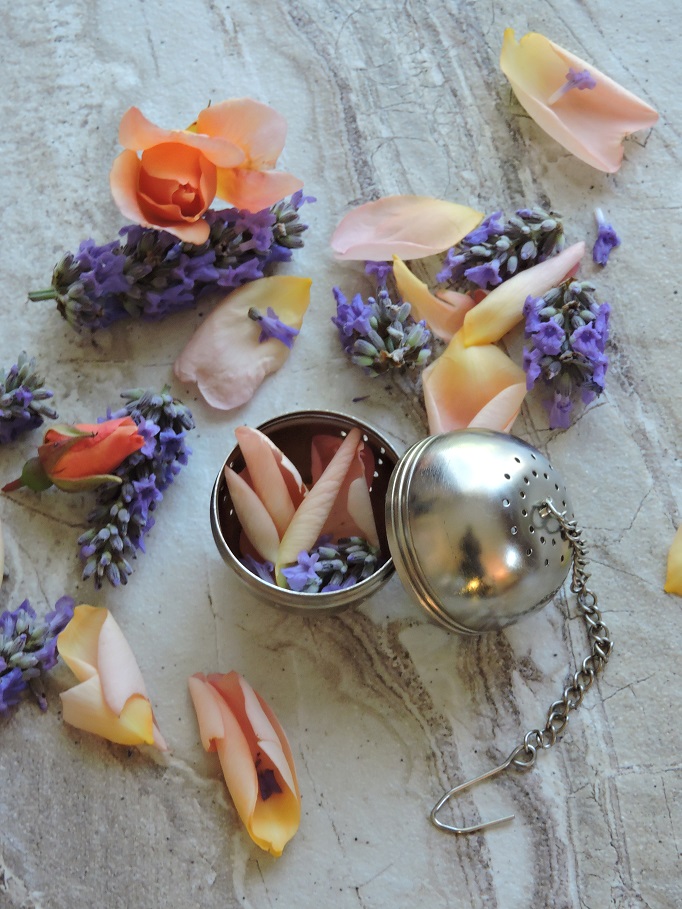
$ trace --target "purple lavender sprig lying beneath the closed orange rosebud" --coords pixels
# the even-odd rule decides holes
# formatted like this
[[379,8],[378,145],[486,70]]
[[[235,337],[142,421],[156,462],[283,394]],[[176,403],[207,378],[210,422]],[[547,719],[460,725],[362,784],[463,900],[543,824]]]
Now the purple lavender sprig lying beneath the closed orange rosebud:
[[158,394],[137,388],[121,397],[126,406],[107,419],[131,416],[147,442],[114,471],[120,485],[99,487],[97,507],[88,515],[93,527],[78,538],[83,578],[94,578],[97,589],[105,578],[114,587],[127,584],[130,560],[138,550],[145,552],[144,537],[155,523],[152,512],[191,454],[185,435],[194,428],[194,418],[167,386]]

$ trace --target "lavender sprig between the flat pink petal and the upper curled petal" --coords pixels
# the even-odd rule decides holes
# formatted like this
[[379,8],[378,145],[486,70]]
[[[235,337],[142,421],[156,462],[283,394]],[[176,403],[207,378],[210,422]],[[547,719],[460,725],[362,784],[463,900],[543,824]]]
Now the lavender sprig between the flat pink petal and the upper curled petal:
[[446,253],[439,281],[470,281],[496,287],[517,272],[549,259],[564,247],[561,215],[543,208],[520,208],[504,222],[496,211]]

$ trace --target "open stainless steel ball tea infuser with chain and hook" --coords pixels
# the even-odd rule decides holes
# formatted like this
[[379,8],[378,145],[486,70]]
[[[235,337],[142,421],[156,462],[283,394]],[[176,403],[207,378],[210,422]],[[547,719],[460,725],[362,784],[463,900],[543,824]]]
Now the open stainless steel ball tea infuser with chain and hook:
[[[431,812],[440,830],[476,833],[513,815],[458,827],[440,820],[441,809],[504,770],[533,767],[538,753],[555,744],[610,656],[613,643],[587,586],[587,548],[562,478],[541,452],[514,436],[490,430],[429,436],[399,459],[376,430],[343,414],[286,414],[259,429],[305,476],[312,436],[345,435],[354,426],[363,431],[375,459],[370,497],[385,560],[374,575],[344,591],[317,594],[283,590],[256,577],[238,558],[241,528],[222,469],[211,497],[214,539],[225,561],[261,599],[308,615],[361,602],[386,582],[392,559],[403,585],[431,618],[464,634],[498,630],[535,612],[571,572],[589,655],[549,708],[543,729],[527,732],[499,767],[444,793]],[[236,447],[225,463],[239,470],[240,457]]]

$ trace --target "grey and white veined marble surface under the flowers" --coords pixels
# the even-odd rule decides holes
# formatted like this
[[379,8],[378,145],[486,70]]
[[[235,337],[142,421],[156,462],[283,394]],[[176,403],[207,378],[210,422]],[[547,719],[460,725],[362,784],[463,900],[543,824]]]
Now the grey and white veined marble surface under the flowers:
[[[5,7],[0,362],[21,349],[39,357],[60,416],[74,422],[102,414],[123,388],[171,382],[198,428],[125,589],[95,593],[80,580],[87,495],[0,498],[9,572],[0,609],[29,597],[44,611],[65,592],[108,606],[172,747],[164,761],[66,726],[64,666],[50,675],[46,714],[25,703],[0,719],[0,906],[679,906],[682,612],[662,589],[682,507],[678,0],[665,10],[635,0]],[[619,173],[581,163],[519,108],[498,68],[508,25],[594,61],[660,111],[650,133],[626,143]],[[124,110],[180,126],[209,101],[240,95],[286,116],[283,164],[318,202],[287,269],[314,282],[294,354],[225,415],[172,376],[205,310],[79,336],[26,295],[82,238],[105,242],[123,223],[108,172]],[[600,205],[623,238],[605,271],[585,269],[613,306],[606,394],[567,432],[548,430],[534,397],[514,427],[571,489],[615,651],[532,772],[462,797],[456,816],[469,822],[516,814],[469,838],[439,833],[428,813],[444,788],[499,763],[544,722],[587,653],[570,599],[471,639],[431,624],[395,577],[358,610],[288,616],[228,572],[208,521],[240,423],[328,407],[352,409],[401,449],[423,433],[398,388],[346,364],[329,324],[333,284],[367,288],[359,267],[334,262],[331,230],[351,205],[405,192],[485,211],[550,203],[570,240],[593,237]],[[520,335],[509,349],[519,355]],[[3,480],[37,436],[0,451]],[[278,860],[246,836],[199,743],[187,677],[230,669],[269,700],[293,743],[303,818]]]

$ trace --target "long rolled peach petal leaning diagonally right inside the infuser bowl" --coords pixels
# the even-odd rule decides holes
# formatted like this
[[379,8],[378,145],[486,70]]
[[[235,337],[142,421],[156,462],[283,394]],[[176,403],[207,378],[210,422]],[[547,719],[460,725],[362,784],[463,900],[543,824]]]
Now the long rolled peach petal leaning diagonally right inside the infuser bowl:
[[[316,543],[336,502],[361,441],[360,430],[351,429],[317,483],[298,507],[279,546],[275,579],[283,586],[282,568],[296,562],[299,552],[309,551]],[[364,468],[363,468],[364,470]]]

